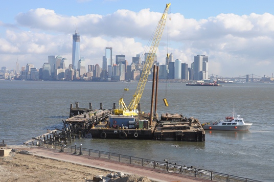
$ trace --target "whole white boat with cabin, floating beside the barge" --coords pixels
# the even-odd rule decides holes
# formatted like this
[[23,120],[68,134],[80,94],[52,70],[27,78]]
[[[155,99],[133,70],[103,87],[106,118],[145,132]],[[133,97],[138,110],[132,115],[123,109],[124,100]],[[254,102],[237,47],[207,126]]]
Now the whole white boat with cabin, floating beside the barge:
[[234,111],[232,117],[225,117],[225,120],[203,123],[202,127],[204,130],[248,130],[252,123],[245,123],[240,115],[237,118],[234,117]]

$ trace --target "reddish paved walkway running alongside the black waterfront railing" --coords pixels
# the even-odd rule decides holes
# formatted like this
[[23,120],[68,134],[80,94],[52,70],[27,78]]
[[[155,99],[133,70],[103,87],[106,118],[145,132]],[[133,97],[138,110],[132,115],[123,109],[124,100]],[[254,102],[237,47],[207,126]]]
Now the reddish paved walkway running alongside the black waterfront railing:
[[[12,148],[12,146],[9,147]],[[43,148],[36,146],[20,146],[20,148],[26,147],[28,148],[28,151],[33,155],[52,158],[54,160],[61,160],[98,169],[104,169],[113,172],[123,172],[124,174],[138,174],[141,176],[147,176],[149,179],[154,181],[211,181],[208,179],[202,179],[185,174],[177,174],[169,171],[147,168],[144,166],[125,164],[99,157],[93,157],[88,155],[74,155],[73,153],[60,152],[59,150],[54,150],[51,148]],[[14,148],[16,147],[14,146]]]

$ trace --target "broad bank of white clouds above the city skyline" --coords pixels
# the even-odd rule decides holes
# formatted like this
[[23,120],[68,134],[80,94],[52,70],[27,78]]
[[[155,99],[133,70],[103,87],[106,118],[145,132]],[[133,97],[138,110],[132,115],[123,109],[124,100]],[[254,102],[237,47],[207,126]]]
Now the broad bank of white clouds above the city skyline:
[[[41,67],[48,55],[62,55],[71,60],[72,34],[76,26],[81,36],[81,55],[87,64],[102,64],[105,47],[113,55],[124,54],[129,63],[143,53],[162,13],[143,9],[139,12],[117,10],[108,15],[65,16],[44,8],[18,14],[17,25],[5,25],[0,38],[0,59],[9,64],[20,57],[23,64]],[[168,17],[169,18],[169,17]],[[273,72],[274,16],[269,13],[250,15],[219,14],[207,19],[188,19],[171,14],[166,27],[174,59],[189,65],[197,54],[209,56],[209,72],[223,76]],[[16,29],[15,29],[16,27]],[[163,33],[158,60],[165,63],[167,29]]]

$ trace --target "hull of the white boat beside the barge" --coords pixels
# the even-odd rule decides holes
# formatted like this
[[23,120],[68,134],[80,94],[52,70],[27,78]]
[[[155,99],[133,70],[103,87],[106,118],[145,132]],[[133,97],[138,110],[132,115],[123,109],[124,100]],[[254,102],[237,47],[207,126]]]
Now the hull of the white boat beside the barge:
[[252,123],[245,123],[245,125],[211,125],[203,124],[202,127],[204,130],[249,130],[252,126]]

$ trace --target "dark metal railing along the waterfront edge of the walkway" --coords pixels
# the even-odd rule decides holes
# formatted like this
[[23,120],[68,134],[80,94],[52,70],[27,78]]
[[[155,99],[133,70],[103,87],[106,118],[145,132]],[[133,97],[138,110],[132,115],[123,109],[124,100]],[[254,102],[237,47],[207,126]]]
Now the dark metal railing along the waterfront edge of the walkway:
[[[41,147],[52,147],[52,145],[41,145]],[[132,165],[144,166],[148,168],[154,168],[159,170],[171,171],[179,174],[186,174],[195,177],[201,177],[204,179],[214,180],[214,181],[225,181],[225,182],[261,182],[259,180],[243,178],[239,176],[223,174],[219,172],[208,171],[204,169],[197,169],[193,167],[186,167],[176,164],[170,164],[168,162],[158,162],[153,160],[148,160],[145,158],[133,157],[128,155],[104,152],[94,149],[87,149],[75,146],[66,146],[66,145],[54,145],[54,149],[60,150],[62,152],[70,152],[78,155],[88,155],[93,157],[105,158],[111,161],[117,161]]]

